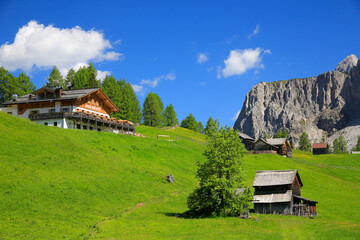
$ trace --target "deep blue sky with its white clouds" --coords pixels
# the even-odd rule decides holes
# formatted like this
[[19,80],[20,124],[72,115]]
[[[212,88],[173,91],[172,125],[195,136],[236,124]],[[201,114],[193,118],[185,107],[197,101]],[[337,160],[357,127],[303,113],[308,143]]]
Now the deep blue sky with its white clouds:
[[[259,82],[317,76],[360,57],[360,1],[0,0],[0,65],[37,87],[53,65],[94,62],[137,90],[232,126]],[[16,40],[15,40],[16,37]]]

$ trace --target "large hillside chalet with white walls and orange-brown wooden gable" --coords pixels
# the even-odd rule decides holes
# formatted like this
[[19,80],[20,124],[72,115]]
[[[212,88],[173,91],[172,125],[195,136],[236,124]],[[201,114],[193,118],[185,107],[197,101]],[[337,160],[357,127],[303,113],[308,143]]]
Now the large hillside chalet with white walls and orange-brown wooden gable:
[[132,122],[110,117],[119,109],[100,88],[63,91],[42,87],[3,103],[0,110],[48,126],[135,133]]

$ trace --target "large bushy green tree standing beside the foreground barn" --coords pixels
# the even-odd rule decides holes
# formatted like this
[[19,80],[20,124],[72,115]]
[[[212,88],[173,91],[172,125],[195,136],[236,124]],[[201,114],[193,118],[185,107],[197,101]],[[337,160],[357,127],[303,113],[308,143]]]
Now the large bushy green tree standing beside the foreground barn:
[[198,162],[199,187],[190,194],[187,205],[195,216],[238,216],[248,205],[248,190],[236,195],[244,187],[242,158],[245,152],[237,133],[226,127],[213,133],[205,150],[205,161]]

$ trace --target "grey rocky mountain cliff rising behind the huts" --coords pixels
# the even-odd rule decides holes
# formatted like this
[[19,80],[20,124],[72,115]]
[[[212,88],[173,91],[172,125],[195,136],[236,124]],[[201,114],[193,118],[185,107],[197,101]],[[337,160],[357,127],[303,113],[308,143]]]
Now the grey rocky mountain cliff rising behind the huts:
[[295,145],[304,131],[331,144],[341,135],[351,149],[360,136],[360,60],[350,55],[317,77],[255,85],[234,129],[254,138],[286,129]]

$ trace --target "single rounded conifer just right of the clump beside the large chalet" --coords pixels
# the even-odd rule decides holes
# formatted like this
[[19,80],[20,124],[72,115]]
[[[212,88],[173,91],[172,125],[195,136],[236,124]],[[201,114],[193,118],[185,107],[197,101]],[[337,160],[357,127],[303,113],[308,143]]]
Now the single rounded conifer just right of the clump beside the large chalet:
[[150,92],[144,101],[143,118],[144,124],[151,127],[159,127],[162,125],[162,112],[164,104],[160,97],[153,92]]

